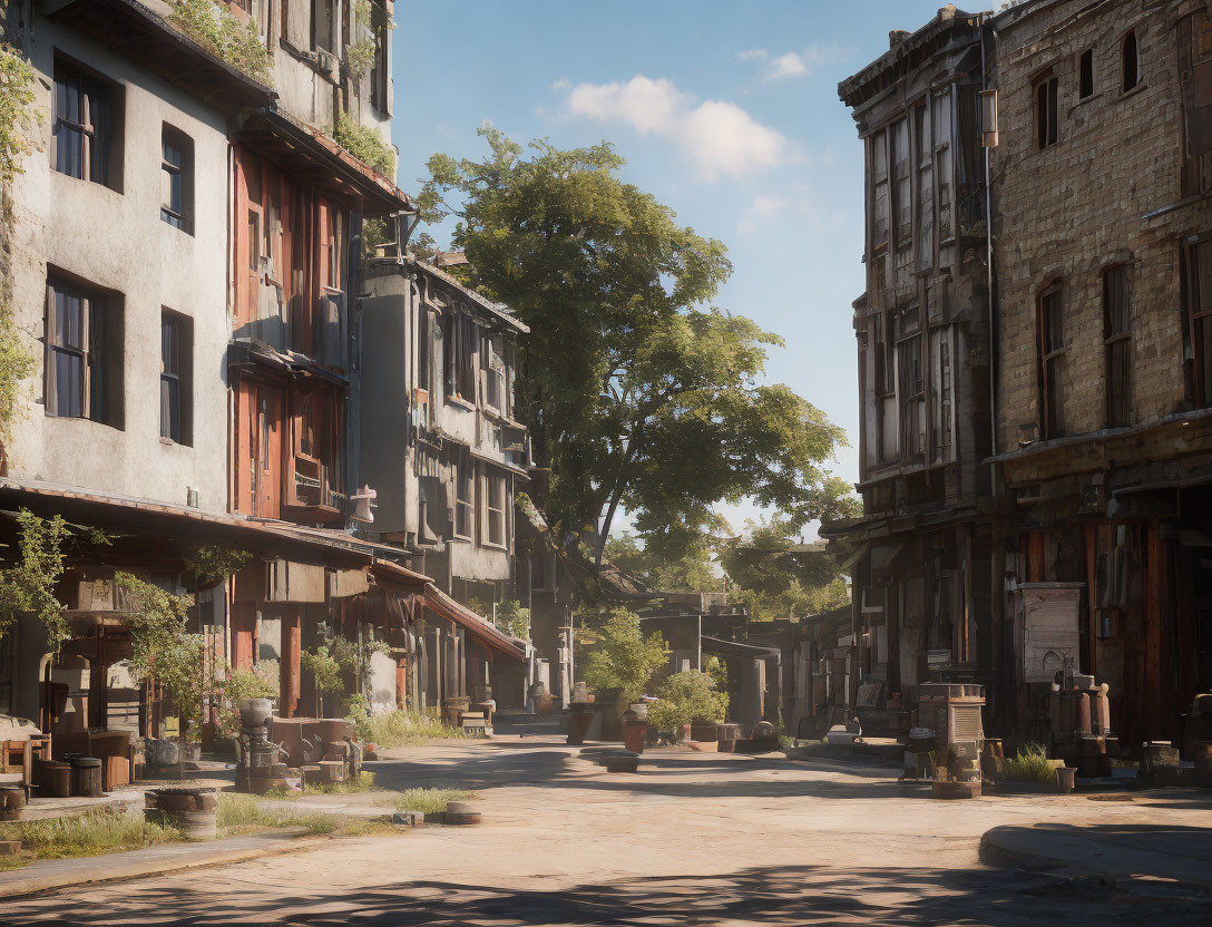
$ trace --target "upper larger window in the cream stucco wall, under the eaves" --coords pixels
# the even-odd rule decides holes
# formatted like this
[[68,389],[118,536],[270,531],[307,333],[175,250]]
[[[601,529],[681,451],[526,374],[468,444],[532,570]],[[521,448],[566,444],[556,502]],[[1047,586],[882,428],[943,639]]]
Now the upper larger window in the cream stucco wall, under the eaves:
[[114,85],[55,62],[51,150],[56,171],[118,189],[115,96]]

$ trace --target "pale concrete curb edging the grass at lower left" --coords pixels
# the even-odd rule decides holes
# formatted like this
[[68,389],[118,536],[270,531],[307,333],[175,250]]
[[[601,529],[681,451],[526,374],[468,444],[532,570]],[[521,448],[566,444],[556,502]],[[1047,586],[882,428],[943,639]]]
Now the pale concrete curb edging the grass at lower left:
[[[205,866],[225,865],[230,863],[244,863],[250,859],[262,857],[282,856],[286,853],[298,853],[304,849],[318,847],[331,837],[303,837],[293,835],[279,835],[265,839],[258,846],[245,846],[235,848],[218,848],[212,852],[200,849],[196,843],[164,845],[177,849],[190,852],[181,856],[154,859],[135,859],[132,857],[144,856],[145,851],[128,851],[127,853],[109,853],[101,857],[79,857],[69,860],[39,860],[39,863],[70,863],[75,865],[64,866],[57,872],[45,872],[42,875],[30,875],[25,879],[0,879],[0,898],[21,898],[30,894],[40,894],[57,888],[70,888],[80,885],[97,885],[101,882],[120,882],[131,879],[145,879],[148,876],[166,875],[168,872],[181,872],[189,869],[202,869]],[[239,839],[238,839],[239,840]],[[39,865],[34,863],[33,865]],[[91,865],[90,865],[91,864]],[[11,875],[19,875],[28,870],[15,870]]]

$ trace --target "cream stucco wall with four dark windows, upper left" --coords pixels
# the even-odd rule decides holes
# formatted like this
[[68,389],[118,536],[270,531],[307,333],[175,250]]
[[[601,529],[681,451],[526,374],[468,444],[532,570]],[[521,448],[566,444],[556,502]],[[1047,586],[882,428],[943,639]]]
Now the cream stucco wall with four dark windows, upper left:
[[[121,85],[122,193],[52,170],[55,55],[87,62]],[[32,61],[45,113],[44,151],[25,161],[13,187],[17,324],[39,341],[25,414],[8,446],[16,476],[184,505],[227,508],[227,122],[195,98],[131,62],[46,19],[36,22]],[[194,143],[193,234],[160,219],[161,127]],[[122,294],[122,429],[45,413],[42,332],[47,265]],[[160,317],[193,319],[193,446],[160,437]]]

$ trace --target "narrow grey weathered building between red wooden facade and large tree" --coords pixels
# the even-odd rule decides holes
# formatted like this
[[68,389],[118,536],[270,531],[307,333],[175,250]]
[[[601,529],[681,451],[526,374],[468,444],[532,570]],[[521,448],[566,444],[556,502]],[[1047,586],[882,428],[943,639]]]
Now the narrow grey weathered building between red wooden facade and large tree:
[[518,597],[514,497],[530,448],[513,379],[515,339],[527,328],[412,257],[371,259],[366,287],[361,471],[376,510],[361,533],[413,557],[445,594],[428,603],[427,637],[415,647],[417,697],[440,704],[492,686],[498,702],[520,704],[525,647],[461,614],[470,606],[494,617]]

